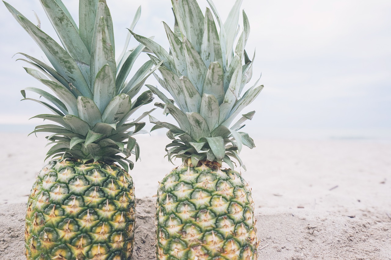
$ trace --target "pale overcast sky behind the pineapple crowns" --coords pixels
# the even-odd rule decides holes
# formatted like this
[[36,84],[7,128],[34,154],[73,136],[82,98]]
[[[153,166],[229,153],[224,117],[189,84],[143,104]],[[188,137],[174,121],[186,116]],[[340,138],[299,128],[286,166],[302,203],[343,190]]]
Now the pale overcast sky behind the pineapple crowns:
[[[8,1],[34,23],[36,11],[41,28],[57,39],[38,0]],[[77,21],[78,1],[64,2]],[[139,5],[142,16],[135,32],[155,36],[168,50],[161,21],[173,24],[169,0],[107,2],[118,54]],[[225,19],[234,0],[214,2]],[[204,11],[206,1],[199,3]],[[246,126],[249,132],[391,129],[391,1],[244,0],[242,8],[251,25],[247,52],[256,48],[252,82],[262,73],[260,84],[265,85],[258,100],[243,111],[256,110]],[[12,56],[25,52],[45,58],[4,5],[0,24],[0,123],[25,122],[47,111],[33,102],[19,102],[20,89],[40,84],[25,73],[23,62],[15,62],[18,56]],[[147,83],[156,84],[152,78]]]

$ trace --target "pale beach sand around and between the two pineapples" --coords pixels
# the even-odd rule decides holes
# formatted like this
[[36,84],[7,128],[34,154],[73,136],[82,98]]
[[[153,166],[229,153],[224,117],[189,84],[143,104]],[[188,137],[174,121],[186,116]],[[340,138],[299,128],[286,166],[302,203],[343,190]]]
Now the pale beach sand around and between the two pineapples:
[[[142,161],[131,175],[142,199],[133,259],[152,260],[152,195],[174,165],[163,158],[167,137],[138,140]],[[0,143],[0,259],[25,259],[25,202],[44,165],[45,139],[2,134]],[[241,157],[256,204],[259,259],[391,259],[390,142],[256,140],[256,145],[244,148]]]

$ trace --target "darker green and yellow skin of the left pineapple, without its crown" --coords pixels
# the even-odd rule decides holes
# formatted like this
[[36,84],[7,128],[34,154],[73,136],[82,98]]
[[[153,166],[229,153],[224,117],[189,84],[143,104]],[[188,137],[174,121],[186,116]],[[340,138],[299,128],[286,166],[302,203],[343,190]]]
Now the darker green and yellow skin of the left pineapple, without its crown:
[[28,260],[130,259],[136,200],[131,176],[115,164],[51,160],[27,202]]

